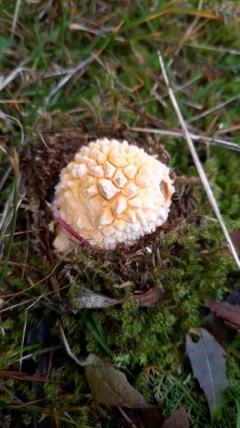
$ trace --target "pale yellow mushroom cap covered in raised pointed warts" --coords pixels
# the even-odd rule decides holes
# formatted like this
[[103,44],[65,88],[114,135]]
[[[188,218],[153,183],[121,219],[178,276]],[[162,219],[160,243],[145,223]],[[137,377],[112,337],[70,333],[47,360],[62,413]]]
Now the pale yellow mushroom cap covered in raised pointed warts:
[[[136,145],[101,138],[60,172],[53,205],[94,246],[132,245],[166,221],[174,192],[170,170]],[[54,240],[68,251],[75,238],[60,227]]]

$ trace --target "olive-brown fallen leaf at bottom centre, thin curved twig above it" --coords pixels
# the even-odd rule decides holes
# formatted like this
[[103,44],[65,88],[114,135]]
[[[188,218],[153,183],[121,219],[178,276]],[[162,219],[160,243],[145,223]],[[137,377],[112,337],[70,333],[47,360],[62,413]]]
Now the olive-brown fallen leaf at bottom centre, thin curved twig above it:
[[106,365],[102,359],[90,354],[85,363],[87,383],[92,397],[101,404],[131,408],[151,407],[148,401],[132,388],[124,373]]

